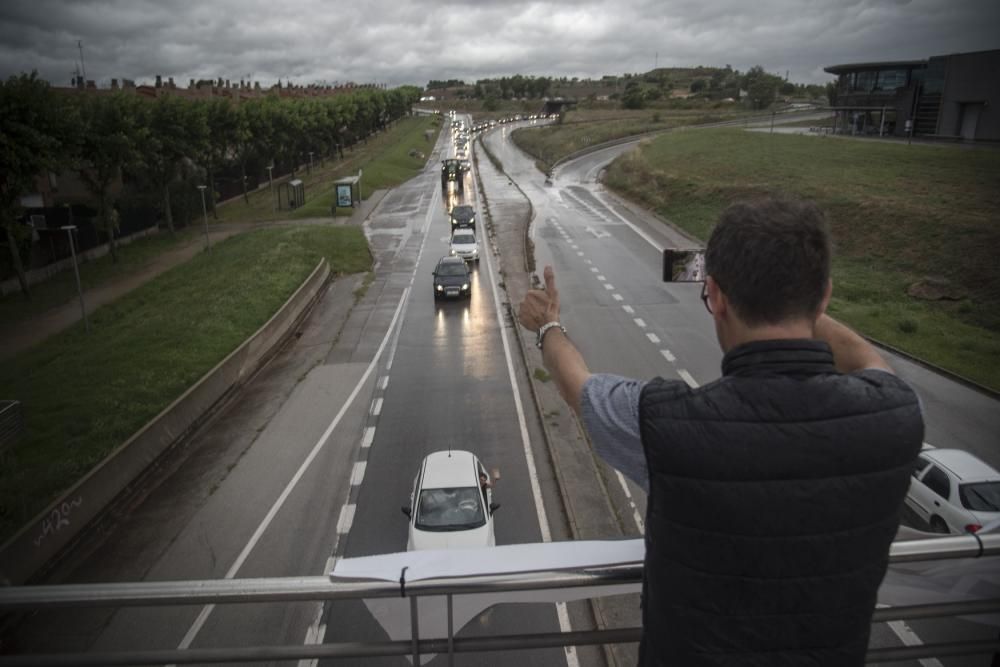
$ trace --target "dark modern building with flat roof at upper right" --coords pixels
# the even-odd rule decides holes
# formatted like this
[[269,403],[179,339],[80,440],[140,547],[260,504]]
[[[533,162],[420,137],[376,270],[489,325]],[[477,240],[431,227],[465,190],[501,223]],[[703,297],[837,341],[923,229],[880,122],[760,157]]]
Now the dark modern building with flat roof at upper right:
[[1000,141],[1000,49],[824,70],[838,133]]

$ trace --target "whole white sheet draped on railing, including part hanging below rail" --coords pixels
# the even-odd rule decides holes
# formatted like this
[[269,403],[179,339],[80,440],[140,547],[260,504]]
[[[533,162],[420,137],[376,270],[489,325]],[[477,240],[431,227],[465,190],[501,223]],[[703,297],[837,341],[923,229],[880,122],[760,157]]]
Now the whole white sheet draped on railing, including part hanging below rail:
[[[406,551],[403,553],[344,558],[330,572],[333,581],[398,582],[403,568],[406,581],[474,575],[505,575],[530,572],[566,572],[641,563],[646,549],[642,539],[582,540],[512,544],[482,549]],[[638,593],[641,585],[549,588],[505,593],[455,595],[452,602],[454,634],[493,605],[524,602],[570,602],[606,595]],[[408,598],[366,599],[365,606],[392,640],[410,639]],[[638,602],[636,603],[638,604]],[[444,595],[421,596],[417,600],[420,637],[448,636],[448,607]],[[421,656],[421,664],[434,655]]]

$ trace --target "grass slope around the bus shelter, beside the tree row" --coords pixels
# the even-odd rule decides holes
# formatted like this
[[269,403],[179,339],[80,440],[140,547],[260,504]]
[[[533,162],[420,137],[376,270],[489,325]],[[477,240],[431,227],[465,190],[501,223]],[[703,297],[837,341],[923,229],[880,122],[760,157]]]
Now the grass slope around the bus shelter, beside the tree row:
[[[369,137],[368,143],[359,143],[344,152],[343,160],[318,160],[308,171],[301,169],[295,177],[305,186],[306,203],[297,209],[273,210],[278,188],[284,188],[291,178],[275,180],[275,197],[264,187],[250,193],[249,203],[242,197],[219,207],[219,222],[258,222],[263,220],[297,220],[302,218],[330,217],[334,201],[333,182],[346,176],[355,176],[362,170],[361,196],[367,199],[374,190],[390,188],[412,178],[427,163],[427,156],[434,148],[441,119],[436,116],[410,116],[400,120],[386,132]],[[425,132],[431,130],[428,139]],[[410,155],[413,151],[414,155]],[[422,156],[422,157],[421,157]],[[284,196],[281,201],[285,202]],[[285,205],[285,204],[283,204]],[[349,208],[338,208],[338,215],[349,215]]]

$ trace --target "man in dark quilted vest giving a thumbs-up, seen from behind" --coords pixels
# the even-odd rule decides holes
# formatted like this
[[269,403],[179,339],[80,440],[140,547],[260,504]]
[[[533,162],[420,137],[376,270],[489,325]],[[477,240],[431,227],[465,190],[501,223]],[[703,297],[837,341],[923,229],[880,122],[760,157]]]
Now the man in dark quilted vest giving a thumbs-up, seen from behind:
[[861,665],[923,441],[913,390],[825,314],[810,203],[723,212],[702,300],[722,377],[591,374],[551,267],[521,304],[597,453],[647,493],[642,665]]

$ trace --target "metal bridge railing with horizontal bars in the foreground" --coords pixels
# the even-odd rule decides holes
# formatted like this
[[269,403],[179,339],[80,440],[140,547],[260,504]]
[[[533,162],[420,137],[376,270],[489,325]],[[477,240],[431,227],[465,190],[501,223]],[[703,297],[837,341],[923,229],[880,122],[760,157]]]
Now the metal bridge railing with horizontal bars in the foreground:
[[[963,535],[895,542],[890,563],[966,559],[1000,556],[1000,534]],[[237,646],[211,649],[120,651],[87,654],[25,654],[0,656],[0,666],[31,665],[162,665],[191,663],[314,660],[376,656],[420,656],[511,649],[535,649],[639,641],[639,627],[574,632],[527,633],[490,637],[457,638],[453,628],[455,596],[555,591],[639,585],[642,563],[627,562],[578,571],[476,574],[408,581],[334,581],[330,577],[280,577],[204,581],[164,581],[112,584],[17,586],[0,589],[0,610],[27,611],[55,607],[136,607],[192,604],[242,604],[255,602],[334,601],[377,598],[407,599],[411,636],[408,640],[350,642],[338,644]],[[447,637],[421,638],[417,600],[437,596],[445,599]],[[873,622],[915,620],[989,614],[1000,611],[1000,598],[963,602],[884,607],[875,610]],[[956,641],[898,648],[871,649],[867,662],[889,662],[952,655],[1000,652],[995,640]]]

